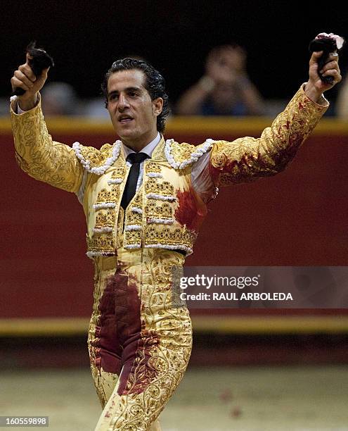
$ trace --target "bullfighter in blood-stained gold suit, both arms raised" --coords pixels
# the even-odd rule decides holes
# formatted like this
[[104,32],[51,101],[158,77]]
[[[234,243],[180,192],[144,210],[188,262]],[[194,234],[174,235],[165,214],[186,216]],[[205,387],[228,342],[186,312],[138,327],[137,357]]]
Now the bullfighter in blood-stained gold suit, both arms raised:
[[105,75],[105,107],[120,139],[100,150],[54,142],[39,94],[48,69],[35,77],[27,58],[15,70],[13,89],[25,89],[11,98],[18,164],[75,193],[86,214],[87,256],[95,266],[88,344],[103,407],[96,431],[160,430],[157,418],[192,348],[188,309],[172,292],[173,267],[193,253],[219,187],[276,175],[310,135],[328,108],[323,92],[341,80],[333,55],[323,66],[333,83],[321,80],[320,56],[311,56],[308,82],[261,137],[197,146],[165,139],[165,80],[146,61],[117,60]]

